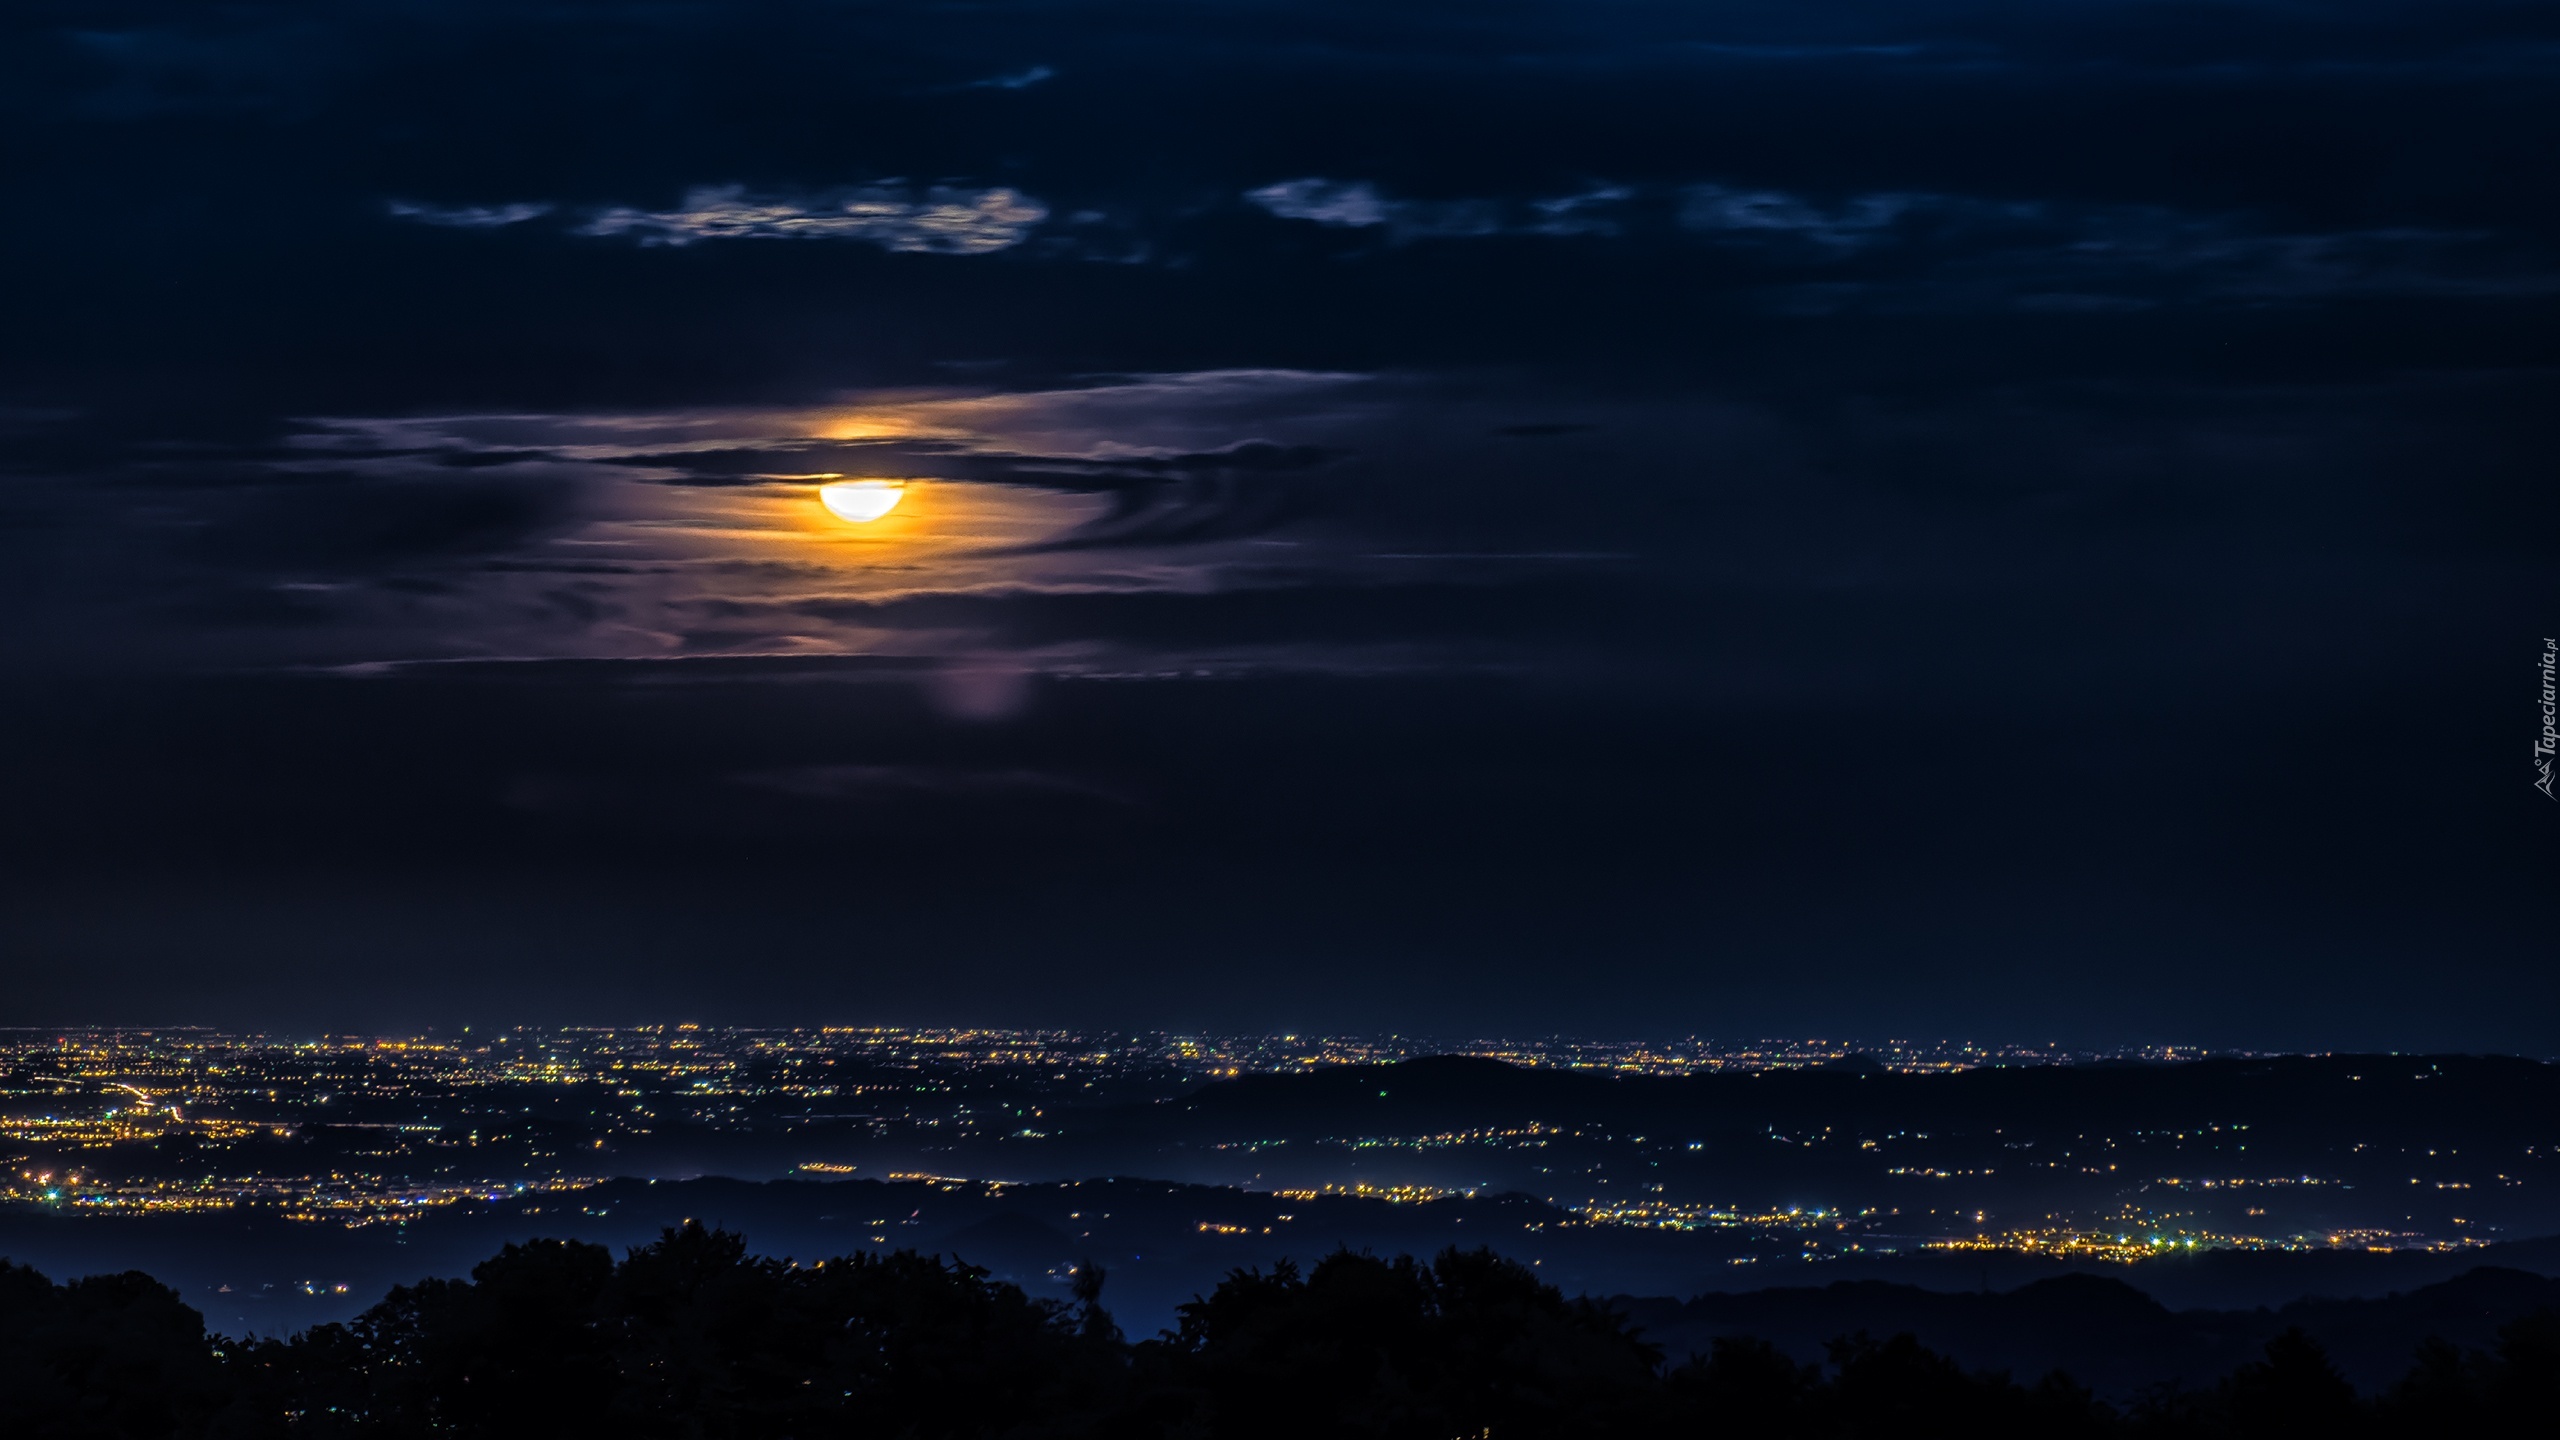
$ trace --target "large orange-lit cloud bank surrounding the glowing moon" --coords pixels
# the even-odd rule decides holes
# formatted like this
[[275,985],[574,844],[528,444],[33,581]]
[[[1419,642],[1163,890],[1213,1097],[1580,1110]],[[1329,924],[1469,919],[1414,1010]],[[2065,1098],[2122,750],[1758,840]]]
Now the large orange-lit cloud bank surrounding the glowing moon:
[[[1280,584],[1247,551],[1277,528],[1306,541],[1290,577],[1375,569],[1326,530],[1339,464],[1390,405],[1375,389],[1175,372],[776,410],[307,418],[223,492],[195,459],[164,466],[182,482],[128,479],[184,484],[169,505],[197,520],[189,556],[236,577],[225,594],[315,612],[261,620],[241,641],[259,653],[906,656],[934,664],[937,707],[980,717],[1034,669],[1155,669],[1144,635],[1027,630],[1060,594]],[[847,525],[817,502],[837,477],[904,479],[906,502]]]

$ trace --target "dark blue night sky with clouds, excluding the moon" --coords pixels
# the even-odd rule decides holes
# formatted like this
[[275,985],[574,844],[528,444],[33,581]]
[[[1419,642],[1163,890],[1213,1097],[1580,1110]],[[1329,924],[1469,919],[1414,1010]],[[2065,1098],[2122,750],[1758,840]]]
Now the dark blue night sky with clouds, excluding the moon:
[[2550,1053],[2555,154],[2522,3],[20,0],[0,1022]]

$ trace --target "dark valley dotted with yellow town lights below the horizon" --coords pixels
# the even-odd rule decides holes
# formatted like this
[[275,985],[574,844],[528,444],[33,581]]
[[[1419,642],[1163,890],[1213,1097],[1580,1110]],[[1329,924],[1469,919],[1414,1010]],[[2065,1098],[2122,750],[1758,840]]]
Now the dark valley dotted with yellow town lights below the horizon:
[[[13,1207],[97,1225],[407,1235],[594,1220],[632,1184],[730,1176],[809,1217],[883,1212],[842,1222],[860,1248],[1019,1212],[1075,1245],[1221,1263],[1352,1225],[1480,1238],[1549,1273],[1618,1253],[1728,1276],[1930,1253],[2161,1266],[2547,1230],[2552,1112],[2452,1143],[2388,1120],[2511,1066],[2545,1071],[1825,1040],[13,1030],[0,1143]],[[1098,1184],[1121,1199],[1078,1199]],[[827,1199],[842,1186],[878,1199]]]

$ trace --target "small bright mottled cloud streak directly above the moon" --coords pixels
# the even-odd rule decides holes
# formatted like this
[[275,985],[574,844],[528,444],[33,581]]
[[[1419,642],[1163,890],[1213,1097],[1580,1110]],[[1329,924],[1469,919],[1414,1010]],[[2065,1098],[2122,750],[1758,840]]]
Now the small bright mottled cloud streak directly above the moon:
[[1021,243],[1050,218],[1016,190],[932,187],[922,197],[896,184],[829,195],[748,195],[745,184],[689,190],[676,210],[614,208],[579,225],[581,236],[635,236],[643,246],[699,241],[870,241],[891,251],[988,254]]

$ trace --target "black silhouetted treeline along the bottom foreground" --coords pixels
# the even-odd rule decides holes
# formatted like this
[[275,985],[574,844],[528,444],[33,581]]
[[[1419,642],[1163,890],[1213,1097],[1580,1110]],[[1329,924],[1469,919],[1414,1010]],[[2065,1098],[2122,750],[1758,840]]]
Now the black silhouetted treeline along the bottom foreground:
[[2112,1407],[2063,1373],[1974,1373],[1910,1335],[1805,1366],[1723,1338],[1664,1363],[1610,1309],[1490,1250],[1234,1271],[1129,1343],[1085,1266],[1032,1299],[911,1250],[796,1266],[686,1225],[620,1263],[507,1245],[346,1325],[225,1340],[143,1273],[0,1261],[0,1435],[54,1437],[2294,1437],[2537,1435],[2560,1314],[2429,1343],[2365,1399],[2299,1330],[2207,1389]]

